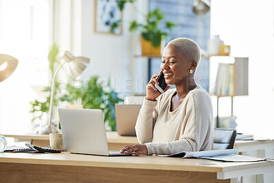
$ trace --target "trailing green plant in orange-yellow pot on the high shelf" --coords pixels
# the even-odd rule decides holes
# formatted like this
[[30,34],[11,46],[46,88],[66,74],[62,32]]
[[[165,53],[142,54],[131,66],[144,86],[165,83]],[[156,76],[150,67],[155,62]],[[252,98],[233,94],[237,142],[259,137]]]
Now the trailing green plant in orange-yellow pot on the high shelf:
[[[133,1],[119,0],[117,3],[119,10],[123,11],[125,3],[127,2],[132,3]],[[144,23],[138,23],[136,20],[130,23],[129,31],[139,31],[141,34],[142,55],[161,55],[162,40],[168,35],[168,32],[162,29],[171,31],[173,27],[177,27],[175,23],[166,21],[164,22],[164,28],[160,28],[159,25],[163,18],[164,13],[157,8],[145,15]],[[121,20],[117,20],[112,23],[110,31],[114,32],[121,22]]]

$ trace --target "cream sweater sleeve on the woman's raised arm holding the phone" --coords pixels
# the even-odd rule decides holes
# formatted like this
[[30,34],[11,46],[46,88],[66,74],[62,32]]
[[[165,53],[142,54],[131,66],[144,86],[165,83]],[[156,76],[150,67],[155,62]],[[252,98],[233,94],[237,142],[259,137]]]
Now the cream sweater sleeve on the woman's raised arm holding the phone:
[[156,109],[158,101],[151,101],[144,99],[140,109],[135,130],[139,143],[144,144],[152,141],[153,126],[158,117],[158,110]]

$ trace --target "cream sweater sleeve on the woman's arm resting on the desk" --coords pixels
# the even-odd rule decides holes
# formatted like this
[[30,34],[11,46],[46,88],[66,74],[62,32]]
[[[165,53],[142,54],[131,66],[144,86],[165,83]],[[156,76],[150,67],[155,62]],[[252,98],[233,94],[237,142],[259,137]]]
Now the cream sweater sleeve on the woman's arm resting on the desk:
[[203,97],[190,97],[186,108],[186,126],[179,140],[145,143],[148,154],[175,154],[183,151],[212,150],[212,104]]

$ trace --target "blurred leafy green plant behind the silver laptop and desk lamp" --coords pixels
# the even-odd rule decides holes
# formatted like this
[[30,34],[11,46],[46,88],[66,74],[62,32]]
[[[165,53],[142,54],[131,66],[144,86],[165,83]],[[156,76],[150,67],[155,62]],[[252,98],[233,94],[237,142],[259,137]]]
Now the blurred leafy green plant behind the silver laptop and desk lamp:
[[[48,55],[51,74],[54,72],[54,65],[58,64],[59,62],[57,55],[58,46],[53,44]],[[58,101],[67,101],[73,104],[75,100],[80,99],[82,105],[86,109],[101,109],[103,111],[105,122],[108,122],[108,125],[112,131],[116,130],[114,105],[123,100],[119,98],[118,94],[110,86],[110,80],[108,81],[108,85],[105,86],[102,82],[99,81],[99,76],[92,76],[88,80],[87,84],[84,85],[84,83],[82,83],[81,87],[75,87],[69,83],[66,86],[66,92],[64,93],[60,91],[59,82],[56,82],[55,85],[55,106],[58,105]],[[36,120],[47,121],[47,119],[43,119],[43,117],[47,118],[47,112],[49,111],[51,87],[44,87],[42,92],[45,94],[44,98],[30,102],[32,108],[29,113],[33,114],[32,122]],[[38,126],[38,124],[35,125]]]

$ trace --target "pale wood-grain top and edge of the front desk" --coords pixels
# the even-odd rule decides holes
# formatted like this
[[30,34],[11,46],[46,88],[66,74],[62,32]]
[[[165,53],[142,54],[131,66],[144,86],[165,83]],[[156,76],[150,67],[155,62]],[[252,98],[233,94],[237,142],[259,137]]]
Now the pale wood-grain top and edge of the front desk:
[[42,165],[71,165],[84,167],[112,167],[130,169],[157,169],[173,171],[223,172],[248,169],[254,166],[273,166],[273,162],[222,163],[193,158],[168,158],[160,156],[92,156],[84,154],[34,154],[1,153],[0,163],[26,163]]

